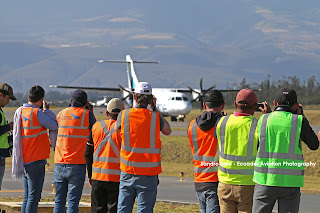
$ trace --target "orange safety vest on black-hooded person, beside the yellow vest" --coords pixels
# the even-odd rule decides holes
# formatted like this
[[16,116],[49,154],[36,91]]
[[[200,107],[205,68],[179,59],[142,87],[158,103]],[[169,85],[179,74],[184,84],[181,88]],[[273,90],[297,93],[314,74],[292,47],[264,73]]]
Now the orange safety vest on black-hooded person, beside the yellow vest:
[[190,122],[188,136],[193,155],[195,182],[219,181],[218,140],[214,137],[215,128],[214,126],[208,131],[202,131],[195,120]]

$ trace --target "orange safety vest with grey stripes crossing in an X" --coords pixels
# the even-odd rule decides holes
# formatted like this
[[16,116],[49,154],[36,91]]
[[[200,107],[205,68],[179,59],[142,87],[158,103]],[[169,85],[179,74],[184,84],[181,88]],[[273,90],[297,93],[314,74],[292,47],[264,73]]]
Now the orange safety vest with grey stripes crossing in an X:
[[115,120],[96,122],[92,127],[94,144],[92,179],[120,181],[121,136],[113,127]]

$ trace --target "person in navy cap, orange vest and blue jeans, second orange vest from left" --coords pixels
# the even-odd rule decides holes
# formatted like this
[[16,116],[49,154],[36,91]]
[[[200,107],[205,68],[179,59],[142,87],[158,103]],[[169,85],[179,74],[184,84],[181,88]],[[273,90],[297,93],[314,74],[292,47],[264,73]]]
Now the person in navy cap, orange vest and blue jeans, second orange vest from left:
[[96,119],[87,109],[87,93],[81,89],[72,94],[71,105],[57,115],[59,125],[54,155],[54,185],[56,187],[53,212],[78,212],[86,175],[84,158],[87,139]]

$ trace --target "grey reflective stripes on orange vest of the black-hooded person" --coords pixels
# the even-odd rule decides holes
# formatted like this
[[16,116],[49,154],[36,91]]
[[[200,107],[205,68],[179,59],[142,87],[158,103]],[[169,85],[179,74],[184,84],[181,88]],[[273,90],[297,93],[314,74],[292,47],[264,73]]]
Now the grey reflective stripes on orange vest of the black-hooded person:
[[[198,131],[197,131],[197,123],[194,121],[192,125],[192,144],[193,144],[193,149],[194,149],[194,155],[193,159],[196,161],[205,161],[205,162],[219,162],[219,155],[217,154],[216,157],[211,157],[211,156],[204,156],[204,155],[199,155],[199,145],[198,145]],[[212,172],[217,172],[218,167],[217,166],[212,166],[212,167],[207,167],[207,168],[198,168],[194,167],[194,172],[195,173],[212,173]]]

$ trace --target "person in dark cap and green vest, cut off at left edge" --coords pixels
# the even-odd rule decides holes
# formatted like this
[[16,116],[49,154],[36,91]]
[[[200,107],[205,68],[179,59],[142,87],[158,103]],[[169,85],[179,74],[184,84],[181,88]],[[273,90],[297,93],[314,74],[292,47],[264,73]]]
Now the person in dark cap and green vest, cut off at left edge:
[[6,158],[10,157],[9,132],[13,129],[13,122],[8,123],[2,108],[10,102],[10,99],[17,100],[12,87],[7,83],[0,84],[0,190],[6,169]]

